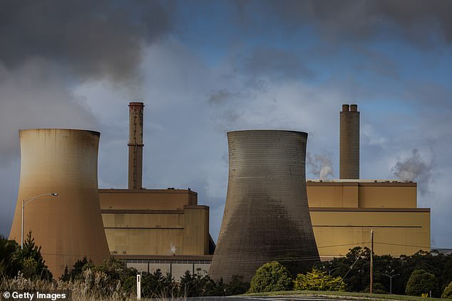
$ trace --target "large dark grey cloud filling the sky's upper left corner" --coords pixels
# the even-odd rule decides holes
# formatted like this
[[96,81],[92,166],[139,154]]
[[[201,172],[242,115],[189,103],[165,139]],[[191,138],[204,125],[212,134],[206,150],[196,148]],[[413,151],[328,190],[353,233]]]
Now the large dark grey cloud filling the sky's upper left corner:
[[128,79],[141,50],[170,28],[168,2],[0,1],[0,60],[41,57],[88,78]]

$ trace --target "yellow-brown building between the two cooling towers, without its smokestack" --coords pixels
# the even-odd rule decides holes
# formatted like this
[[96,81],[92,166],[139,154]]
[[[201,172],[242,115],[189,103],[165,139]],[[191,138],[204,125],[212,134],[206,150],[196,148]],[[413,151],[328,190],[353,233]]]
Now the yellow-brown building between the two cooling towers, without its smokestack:
[[[209,255],[209,207],[183,189],[100,189],[111,254]],[[134,258],[134,257],[131,257]]]

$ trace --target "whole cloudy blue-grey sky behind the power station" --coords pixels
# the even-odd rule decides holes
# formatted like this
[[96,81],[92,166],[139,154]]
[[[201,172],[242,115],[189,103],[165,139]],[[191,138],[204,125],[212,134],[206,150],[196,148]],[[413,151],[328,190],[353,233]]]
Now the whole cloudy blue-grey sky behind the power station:
[[361,112],[361,179],[418,182],[452,248],[452,1],[0,1],[0,233],[20,129],[101,132],[125,188],[128,102],[145,103],[143,186],[197,191],[220,230],[231,130],[308,132],[307,178],[339,177],[339,111]]

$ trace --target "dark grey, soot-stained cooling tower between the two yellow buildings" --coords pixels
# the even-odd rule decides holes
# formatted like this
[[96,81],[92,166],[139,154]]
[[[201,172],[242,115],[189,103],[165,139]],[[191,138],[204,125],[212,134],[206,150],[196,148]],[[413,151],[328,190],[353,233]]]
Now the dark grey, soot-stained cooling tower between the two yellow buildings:
[[250,281],[277,260],[299,272],[319,261],[307,204],[307,133],[228,132],[229,180],[225,213],[209,275]]

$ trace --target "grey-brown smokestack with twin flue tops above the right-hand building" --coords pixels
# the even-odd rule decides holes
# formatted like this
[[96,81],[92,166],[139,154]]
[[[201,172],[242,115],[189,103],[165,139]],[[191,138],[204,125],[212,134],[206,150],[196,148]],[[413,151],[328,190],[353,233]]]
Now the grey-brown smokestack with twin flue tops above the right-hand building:
[[359,179],[358,105],[342,105],[339,139],[339,179]]

